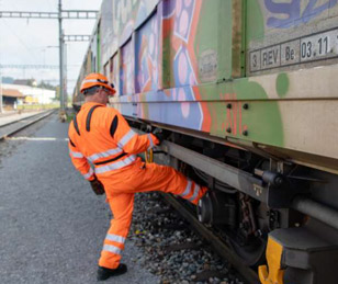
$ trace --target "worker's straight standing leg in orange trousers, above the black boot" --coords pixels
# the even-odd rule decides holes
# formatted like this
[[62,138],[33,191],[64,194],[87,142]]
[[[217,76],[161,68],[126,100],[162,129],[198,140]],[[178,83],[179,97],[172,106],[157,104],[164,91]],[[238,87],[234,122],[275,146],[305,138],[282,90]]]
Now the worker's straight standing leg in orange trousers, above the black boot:
[[109,205],[113,213],[113,219],[104,239],[99,265],[116,269],[132,223],[134,193],[114,193],[109,198]]

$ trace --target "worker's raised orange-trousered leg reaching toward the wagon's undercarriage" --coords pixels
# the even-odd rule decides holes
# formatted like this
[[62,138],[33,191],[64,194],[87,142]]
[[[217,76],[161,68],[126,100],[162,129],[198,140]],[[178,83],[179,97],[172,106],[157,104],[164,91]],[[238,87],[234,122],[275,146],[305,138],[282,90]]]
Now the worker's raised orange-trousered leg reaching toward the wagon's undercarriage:
[[135,181],[134,192],[162,191],[180,195],[193,204],[198,204],[207,191],[207,188],[200,186],[173,168],[157,163],[147,163],[142,167],[135,172],[133,180]]

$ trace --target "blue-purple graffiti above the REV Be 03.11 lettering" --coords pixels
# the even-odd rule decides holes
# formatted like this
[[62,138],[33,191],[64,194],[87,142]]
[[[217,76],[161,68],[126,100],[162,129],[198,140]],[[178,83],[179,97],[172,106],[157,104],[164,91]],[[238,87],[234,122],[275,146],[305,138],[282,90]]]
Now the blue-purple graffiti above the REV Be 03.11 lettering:
[[[269,13],[267,26],[274,29],[289,29],[309,22],[324,11],[333,9],[338,0],[291,0],[277,2],[264,0]],[[285,16],[286,15],[286,16]]]

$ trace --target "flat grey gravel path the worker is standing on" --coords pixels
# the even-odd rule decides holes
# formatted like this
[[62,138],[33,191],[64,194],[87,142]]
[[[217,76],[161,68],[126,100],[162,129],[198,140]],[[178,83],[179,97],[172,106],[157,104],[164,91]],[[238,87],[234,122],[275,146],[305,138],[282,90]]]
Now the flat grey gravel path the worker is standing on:
[[[34,136],[58,140],[8,141],[19,145],[0,164],[0,283],[95,283],[110,214],[74,169],[67,128],[53,115]],[[102,283],[158,283],[135,253],[127,241],[128,273]]]

